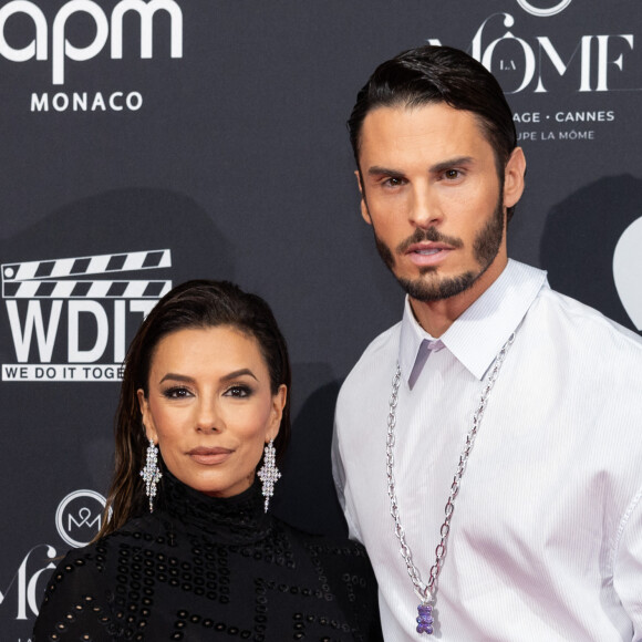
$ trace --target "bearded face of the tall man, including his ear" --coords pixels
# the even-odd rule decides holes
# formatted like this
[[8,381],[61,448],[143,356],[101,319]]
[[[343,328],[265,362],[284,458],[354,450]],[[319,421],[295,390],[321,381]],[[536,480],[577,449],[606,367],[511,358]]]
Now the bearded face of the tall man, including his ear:
[[[363,218],[376,247],[418,301],[483,291],[506,266],[505,205],[521,195],[521,151],[500,180],[470,112],[444,103],[379,107],[361,134]],[[516,175],[519,189],[516,194]],[[504,176],[503,176],[504,178]],[[505,203],[507,200],[507,203]]]

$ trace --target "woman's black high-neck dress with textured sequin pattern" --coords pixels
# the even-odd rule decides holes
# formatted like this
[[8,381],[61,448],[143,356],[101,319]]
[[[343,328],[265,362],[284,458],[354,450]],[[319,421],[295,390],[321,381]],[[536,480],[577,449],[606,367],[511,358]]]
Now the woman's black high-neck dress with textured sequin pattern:
[[382,640],[361,545],[266,515],[257,484],[228,499],[162,486],[153,514],[59,565],[34,642]]

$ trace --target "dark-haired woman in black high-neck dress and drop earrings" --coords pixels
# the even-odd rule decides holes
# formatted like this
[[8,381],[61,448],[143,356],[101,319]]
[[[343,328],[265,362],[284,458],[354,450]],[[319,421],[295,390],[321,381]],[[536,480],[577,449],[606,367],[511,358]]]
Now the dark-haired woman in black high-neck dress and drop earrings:
[[381,640],[363,548],[268,512],[289,386],[259,297],[189,281],[156,304],[127,353],[112,517],[54,571],[37,642]]

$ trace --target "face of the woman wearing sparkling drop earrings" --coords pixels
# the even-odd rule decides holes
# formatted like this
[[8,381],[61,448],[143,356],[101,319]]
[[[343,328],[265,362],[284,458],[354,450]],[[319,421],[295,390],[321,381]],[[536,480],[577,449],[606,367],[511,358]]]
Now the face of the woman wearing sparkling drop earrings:
[[230,325],[178,330],[152,356],[138,403],[148,439],[180,482],[216,497],[251,486],[277,436],[287,390],[272,395],[257,340]]

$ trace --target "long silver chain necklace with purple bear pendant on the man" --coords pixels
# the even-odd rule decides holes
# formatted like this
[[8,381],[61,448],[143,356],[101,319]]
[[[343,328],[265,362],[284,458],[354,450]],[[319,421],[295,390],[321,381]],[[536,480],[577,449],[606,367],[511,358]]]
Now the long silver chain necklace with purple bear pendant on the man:
[[448,535],[451,534],[451,519],[453,518],[453,511],[455,510],[455,498],[459,493],[459,484],[462,482],[462,477],[464,476],[464,470],[466,470],[466,464],[468,463],[470,451],[473,449],[473,445],[475,444],[475,437],[477,436],[477,431],[479,429],[482,417],[484,416],[484,411],[486,410],[486,404],[488,403],[488,396],[490,395],[490,391],[493,390],[493,386],[497,381],[497,376],[499,375],[499,371],[501,370],[501,365],[504,363],[504,360],[506,359],[506,353],[508,352],[508,349],[512,345],[514,341],[515,341],[515,332],[508,338],[508,341],[504,344],[504,346],[495,358],[493,370],[490,371],[490,374],[486,379],[486,385],[484,386],[484,390],[482,392],[479,404],[477,405],[477,410],[473,415],[473,425],[470,426],[470,429],[466,435],[466,445],[464,446],[464,449],[459,455],[459,464],[457,465],[457,472],[455,473],[453,484],[451,485],[451,493],[448,495],[448,500],[446,501],[445,508],[446,517],[444,519],[444,524],[442,524],[442,528],[439,529],[442,540],[439,541],[437,548],[435,549],[435,563],[431,568],[427,583],[422,582],[420,571],[417,570],[417,567],[415,567],[413,562],[413,553],[408,545],[406,543],[406,537],[404,528],[401,522],[398,504],[396,499],[396,490],[394,482],[394,443],[395,443],[394,428],[396,424],[396,405],[398,397],[398,386],[401,383],[401,369],[398,366],[398,363],[396,365],[396,372],[392,380],[392,395],[390,397],[390,412],[387,415],[387,439],[385,446],[387,495],[390,497],[390,512],[392,515],[392,518],[394,519],[395,535],[397,536],[401,543],[400,553],[406,565],[408,576],[413,582],[415,594],[422,601],[421,604],[417,607],[418,611],[418,617],[416,619],[417,633],[426,633],[428,635],[433,633],[434,618],[432,613],[436,600],[437,578],[439,577],[439,572],[442,570],[442,567],[444,566],[444,556],[446,555],[446,542],[448,541]]

